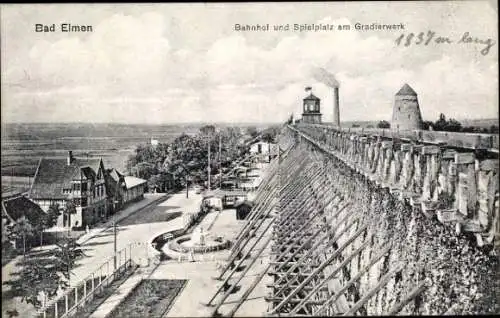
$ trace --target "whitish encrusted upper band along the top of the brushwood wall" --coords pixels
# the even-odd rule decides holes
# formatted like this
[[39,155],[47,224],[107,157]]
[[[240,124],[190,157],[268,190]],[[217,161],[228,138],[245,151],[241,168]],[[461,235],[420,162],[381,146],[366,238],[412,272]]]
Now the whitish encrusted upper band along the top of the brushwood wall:
[[[477,158],[447,145],[383,140],[314,125],[298,129],[350,168],[430,218],[472,233],[478,245],[500,233],[498,154]],[[496,156],[496,158],[495,158]]]

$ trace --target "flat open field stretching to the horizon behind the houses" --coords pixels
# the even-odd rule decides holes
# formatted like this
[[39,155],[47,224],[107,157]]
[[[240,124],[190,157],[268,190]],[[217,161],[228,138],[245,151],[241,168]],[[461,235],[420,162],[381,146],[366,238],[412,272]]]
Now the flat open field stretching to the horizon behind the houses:
[[106,168],[124,171],[139,144],[148,144],[151,138],[166,143],[198,129],[196,125],[4,124],[2,176],[33,176],[40,158],[65,158],[68,150],[76,157],[102,157]]

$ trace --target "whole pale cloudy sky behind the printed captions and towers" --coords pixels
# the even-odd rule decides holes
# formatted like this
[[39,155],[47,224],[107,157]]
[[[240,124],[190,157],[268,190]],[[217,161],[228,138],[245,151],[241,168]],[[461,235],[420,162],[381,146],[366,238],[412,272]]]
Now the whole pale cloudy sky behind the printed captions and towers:
[[[390,120],[408,83],[423,118],[498,118],[495,1],[232,4],[4,4],[2,122],[284,122],[302,112],[304,88],[341,121]],[[36,24],[91,25],[93,32],[35,32]],[[404,30],[355,30],[361,23]],[[235,24],[269,24],[237,31]],[[351,30],[274,31],[274,25],[350,25]],[[433,32],[431,42],[396,39]],[[459,43],[463,34],[494,41]],[[453,43],[436,43],[447,37]]]

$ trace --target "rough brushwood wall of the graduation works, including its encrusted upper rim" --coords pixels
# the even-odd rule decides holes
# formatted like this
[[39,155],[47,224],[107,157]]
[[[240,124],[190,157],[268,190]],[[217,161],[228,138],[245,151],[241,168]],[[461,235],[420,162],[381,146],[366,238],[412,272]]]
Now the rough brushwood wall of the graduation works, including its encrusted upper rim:
[[[477,159],[446,147],[359,137],[302,126],[288,133],[323,160],[328,186],[351,205],[332,221],[359,216],[333,246],[342,246],[335,268],[355,254],[332,292],[367,270],[332,306],[348,310],[373,291],[358,314],[478,314],[500,311],[498,160]],[[320,151],[318,151],[320,150]],[[347,218],[346,218],[347,217]],[[336,227],[340,232],[349,221]],[[362,244],[368,245],[355,253]],[[380,254],[378,261],[371,261]],[[327,256],[327,255],[326,255]],[[325,256],[325,257],[326,257]],[[376,288],[375,288],[376,289]],[[342,304],[344,302],[344,304]]]

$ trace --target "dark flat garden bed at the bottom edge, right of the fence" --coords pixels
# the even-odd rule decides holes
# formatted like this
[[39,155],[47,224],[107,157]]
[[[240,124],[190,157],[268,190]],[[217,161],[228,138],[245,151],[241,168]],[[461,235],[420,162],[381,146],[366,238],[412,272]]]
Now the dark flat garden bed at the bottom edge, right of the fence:
[[185,279],[145,279],[107,318],[163,317],[186,284]]

